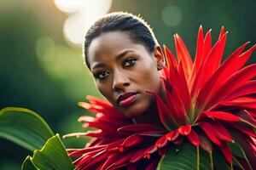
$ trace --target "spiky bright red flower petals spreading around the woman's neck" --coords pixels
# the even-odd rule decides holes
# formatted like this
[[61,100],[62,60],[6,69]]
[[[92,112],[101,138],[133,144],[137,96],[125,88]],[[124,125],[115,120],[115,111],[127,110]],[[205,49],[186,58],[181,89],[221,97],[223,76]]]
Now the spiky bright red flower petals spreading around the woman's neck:
[[[133,124],[113,109],[107,101],[88,96],[80,106],[96,113],[81,116],[84,127],[98,130],[67,136],[90,136],[84,149],[70,149],[69,156],[79,156],[77,169],[155,169],[160,157],[183,142],[199,150],[221,150],[230,167],[233,161],[244,169],[256,169],[256,64],[244,66],[256,45],[244,51],[248,42],[223,62],[227,32],[221,29],[212,46],[211,31],[204,37],[200,27],[195,61],[181,37],[174,35],[177,59],[164,47],[167,67],[162,70],[166,102],[155,95],[160,121],[164,127]],[[238,144],[247,157],[236,156],[230,143]]]

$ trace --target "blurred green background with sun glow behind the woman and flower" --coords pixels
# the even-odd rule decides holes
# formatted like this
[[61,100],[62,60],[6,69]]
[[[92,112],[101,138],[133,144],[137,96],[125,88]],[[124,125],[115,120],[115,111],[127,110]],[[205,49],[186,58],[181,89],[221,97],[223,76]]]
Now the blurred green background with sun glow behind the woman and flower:
[[[243,42],[255,43],[255,9],[254,0],[0,0],[0,108],[36,111],[61,135],[82,132],[77,118],[88,112],[77,103],[87,94],[101,96],[84,66],[85,24],[113,11],[140,14],[160,44],[173,51],[178,33],[192,56],[200,25],[204,31],[212,28],[213,41],[225,26],[226,57]],[[249,63],[255,60],[254,53]],[[63,141],[67,147],[83,147],[87,140]],[[27,155],[32,153],[0,139],[1,170],[20,169]]]

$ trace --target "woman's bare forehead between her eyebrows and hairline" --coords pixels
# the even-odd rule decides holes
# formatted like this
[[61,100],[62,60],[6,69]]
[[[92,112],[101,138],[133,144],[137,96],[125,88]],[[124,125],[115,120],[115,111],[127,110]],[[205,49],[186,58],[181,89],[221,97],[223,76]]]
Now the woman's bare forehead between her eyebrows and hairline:
[[88,61],[90,66],[95,62],[102,62],[102,59],[111,59],[123,53],[125,50],[145,52],[146,48],[136,42],[132,42],[128,33],[124,31],[113,31],[102,33],[90,43],[88,49]]

